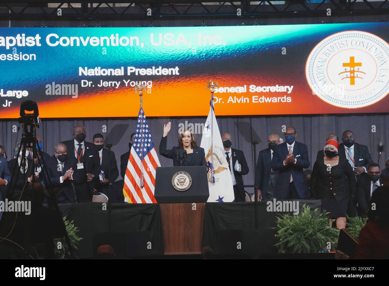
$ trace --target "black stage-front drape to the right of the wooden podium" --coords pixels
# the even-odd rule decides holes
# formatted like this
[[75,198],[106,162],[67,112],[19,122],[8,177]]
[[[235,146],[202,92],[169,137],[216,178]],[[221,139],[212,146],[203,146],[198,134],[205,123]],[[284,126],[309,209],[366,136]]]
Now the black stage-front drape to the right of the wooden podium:
[[[218,258],[256,259],[277,254],[274,247],[277,230],[270,228],[277,226],[276,216],[286,212],[268,212],[266,202],[258,202],[258,229],[255,228],[254,202],[205,204],[202,246],[211,247]],[[321,210],[321,200],[299,200],[300,212],[303,204],[311,211]]]

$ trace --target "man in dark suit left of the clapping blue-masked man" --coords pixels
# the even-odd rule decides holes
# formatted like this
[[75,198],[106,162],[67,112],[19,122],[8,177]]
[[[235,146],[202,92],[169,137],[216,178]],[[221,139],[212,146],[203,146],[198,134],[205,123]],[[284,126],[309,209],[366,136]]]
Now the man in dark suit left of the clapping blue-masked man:
[[[256,182],[258,186],[258,200],[271,199],[274,195],[274,187],[278,178],[278,171],[272,170],[273,150],[281,144],[280,137],[272,134],[268,139],[268,148],[259,151],[256,167]],[[268,196],[266,197],[266,195]]]

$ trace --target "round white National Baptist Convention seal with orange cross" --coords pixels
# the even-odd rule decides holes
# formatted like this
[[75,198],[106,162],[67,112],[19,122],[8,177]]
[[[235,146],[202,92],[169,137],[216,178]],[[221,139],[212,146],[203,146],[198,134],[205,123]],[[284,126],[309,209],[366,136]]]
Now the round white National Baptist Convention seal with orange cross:
[[375,104],[389,93],[389,44],[371,33],[335,33],[308,56],[305,76],[312,93],[343,108]]

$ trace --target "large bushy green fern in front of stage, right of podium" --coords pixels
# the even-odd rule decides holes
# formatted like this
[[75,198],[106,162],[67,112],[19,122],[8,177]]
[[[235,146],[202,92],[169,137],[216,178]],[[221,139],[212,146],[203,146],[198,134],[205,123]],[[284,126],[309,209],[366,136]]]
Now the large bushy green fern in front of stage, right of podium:
[[277,227],[273,229],[277,229],[278,253],[327,252],[328,242],[331,242],[331,250],[336,247],[339,230],[329,227],[328,212],[318,212],[315,209],[311,214],[310,207],[304,204],[299,215],[277,217]]

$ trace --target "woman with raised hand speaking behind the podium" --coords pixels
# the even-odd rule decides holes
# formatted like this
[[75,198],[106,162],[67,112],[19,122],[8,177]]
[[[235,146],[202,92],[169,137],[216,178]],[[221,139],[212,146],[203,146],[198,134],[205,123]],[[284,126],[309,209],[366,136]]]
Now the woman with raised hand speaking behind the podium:
[[166,150],[167,135],[170,131],[171,122],[163,125],[163,136],[159,144],[159,154],[173,159],[174,166],[207,166],[205,152],[202,147],[197,147],[195,134],[186,130],[178,136],[178,147]]

